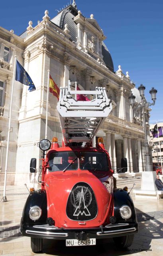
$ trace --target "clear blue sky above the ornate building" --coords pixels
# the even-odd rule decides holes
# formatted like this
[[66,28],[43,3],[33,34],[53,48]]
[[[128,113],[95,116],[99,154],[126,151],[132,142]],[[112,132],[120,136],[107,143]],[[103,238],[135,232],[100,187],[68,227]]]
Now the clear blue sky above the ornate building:
[[[53,18],[56,10],[69,3],[68,0],[33,0],[24,4],[19,0],[1,1],[0,26],[19,35],[26,30],[29,20],[35,26],[45,10]],[[157,89],[150,123],[163,121],[163,0],[76,0],[76,4],[87,18],[94,14],[107,36],[104,42],[112,55],[114,70],[121,65],[136,87],[145,85],[148,101],[151,87]]]

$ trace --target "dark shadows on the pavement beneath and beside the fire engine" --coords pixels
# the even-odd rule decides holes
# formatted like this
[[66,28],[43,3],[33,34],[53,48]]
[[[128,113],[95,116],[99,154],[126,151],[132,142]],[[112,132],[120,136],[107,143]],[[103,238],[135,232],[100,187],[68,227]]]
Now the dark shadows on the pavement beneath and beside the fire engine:
[[[134,254],[142,252],[143,250],[153,251],[151,248],[151,241],[153,239],[163,238],[163,224],[158,218],[151,217],[148,213],[139,212],[141,222],[139,222],[139,233],[135,235],[134,242],[126,250],[122,250],[117,247],[112,238],[96,240],[96,246],[65,246],[64,240],[43,240],[43,253],[58,256],[114,256]],[[156,212],[157,213],[157,212]],[[3,225],[10,224],[11,222],[1,222]],[[21,233],[19,226],[3,227],[0,226],[1,238],[7,238],[8,240],[13,237],[20,237]],[[5,236],[4,236],[5,234]],[[5,239],[2,239],[5,240]],[[2,241],[1,240],[1,241]]]

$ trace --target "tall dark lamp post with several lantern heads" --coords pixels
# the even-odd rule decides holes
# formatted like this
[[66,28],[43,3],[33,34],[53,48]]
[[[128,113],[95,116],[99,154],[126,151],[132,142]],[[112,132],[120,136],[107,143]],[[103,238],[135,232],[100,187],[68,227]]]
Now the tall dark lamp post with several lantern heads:
[[153,166],[151,165],[151,157],[150,157],[150,153],[149,153],[149,144],[148,144],[148,139],[147,139],[147,126],[146,126],[146,122],[145,122],[145,110],[144,108],[149,108],[149,106],[151,105],[155,105],[155,100],[156,100],[156,93],[157,90],[152,87],[152,89],[149,91],[149,93],[151,94],[151,99],[153,100],[153,103],[150,102],[146,102],[145,100],[145,95],[144,95],[144,91],[145,91],[145,86],[143,86],[143,84],[141,84],[138,87],[140,96],[141,96],[141,101],[139,102],[139,104],[135,107],[135,96],[131,93],[131,95],[128,97],[130,100],[130,105],[132,106],[133,109],[142,109],[142,114],[143,114],[143,123],[144,123],[144,134],[145,134],[145,160],[146,160],[146,171],[153,171]]

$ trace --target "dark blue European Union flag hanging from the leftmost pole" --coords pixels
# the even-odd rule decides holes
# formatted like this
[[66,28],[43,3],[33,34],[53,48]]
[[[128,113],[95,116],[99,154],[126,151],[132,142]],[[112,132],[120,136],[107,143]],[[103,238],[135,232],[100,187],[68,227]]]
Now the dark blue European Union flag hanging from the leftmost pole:
[[29,92],[32,92],[35,90],[35,85],[33,84],[29,74],[27,71],[22,67],[22,65],[16,60],[16,74],[15,74],[15,80],[19,81],[22,84],[25,84],[29,86]]

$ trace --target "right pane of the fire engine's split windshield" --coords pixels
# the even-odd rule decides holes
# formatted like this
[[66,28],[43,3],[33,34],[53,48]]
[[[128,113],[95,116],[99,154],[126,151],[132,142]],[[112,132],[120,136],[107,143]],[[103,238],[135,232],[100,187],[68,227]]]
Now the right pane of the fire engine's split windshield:
[[103,152],[80,152],[80,169],[92,171],[109,170],[107,156]]

